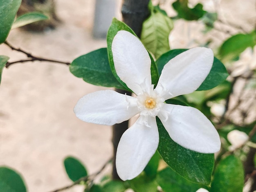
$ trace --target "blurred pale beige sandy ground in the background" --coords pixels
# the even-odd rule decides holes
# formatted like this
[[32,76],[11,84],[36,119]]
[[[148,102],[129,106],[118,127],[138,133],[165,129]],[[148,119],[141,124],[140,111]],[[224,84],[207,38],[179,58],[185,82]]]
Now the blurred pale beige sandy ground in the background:
[[[212,2],[219,5],[220,0]],[[223,2],[230,8],[233,1]],[[245,2],[243,7],[233,4],[233,8],[245,14],[248,9],[255,11],[253,2],[247,1],[247,7]],[[56,0],[57,15],[63,20],[56,30],[27,33],[16,29],[8,41],[36,56],[67,62],[106,47],[105,40],[92,39],[94,4],[94,0]],[[207,6],[216,9],[213,4]],[[237,12],[234,15],[229,9],[220,10],[224,17],[232,15],[240,23]],[[252,22],[252,16],[246,22]],[[177,26],[180,28],[173,30],[170,38],[172,47],[194,46],[196,41],[191,43],[189,39],[200,36],[189,31],[197,27],[182,22]],[[11,61],[25,58],[5,45],[0,46],[0,54],[11,57]],[[0,86],[0,165],[22,173],[30,192],[46,192],[70,184],[63,168],[63,159],[68,155],[81,159],[90,173],[99,170],[112,156],[111,128],[80,121],[73,107],[83,95],[100,89],[104,88],[74,77],[62,64],[34,62],[4,69]],[[83,190],[76,187],[68,191]]]

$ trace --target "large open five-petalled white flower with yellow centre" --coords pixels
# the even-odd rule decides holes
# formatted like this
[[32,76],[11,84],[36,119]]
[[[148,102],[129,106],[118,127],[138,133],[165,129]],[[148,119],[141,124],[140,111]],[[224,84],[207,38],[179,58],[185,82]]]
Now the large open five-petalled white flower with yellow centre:
[[148,51],[137,37],[118,31],[112,53],[117,75],[137,97],[112,90],[98,91],[83,96],[74,112],[83,121],[101,125],[114,125],[140,114],[124,132],[117,148],[116,167],[122,180],[139,175],[157,150],[156,116],[179,145],[201,153],[220,149],[218,132],[198,109],[164,103],[169,98],[194,92],[202,84],[213,64],[211,49],[189,49],[171,59],[155,89],[151,85]]

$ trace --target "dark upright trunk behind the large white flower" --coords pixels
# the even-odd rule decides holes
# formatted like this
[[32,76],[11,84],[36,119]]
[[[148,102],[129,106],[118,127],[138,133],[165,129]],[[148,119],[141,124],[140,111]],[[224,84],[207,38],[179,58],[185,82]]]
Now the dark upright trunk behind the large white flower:
[[[122,15],[123,21],[135,32],[135,34],[139,37],[141,34],[141,28],[143,21],[149,16],[150,12],[148,10],[148,2],[149,0],[123,0],[122,4]],[[126,92],[121,89],[116,89],[117,92],[122,94],[131,95],[131,93]],[[113,136],[113,170],[112,170],[112,178],[120,179],[117,175],[116,170],[116,153],[117,153],[117,145],[122,134],[128,129],[128,121],[125,121],[120,124],[116,124],[112,128]]]

